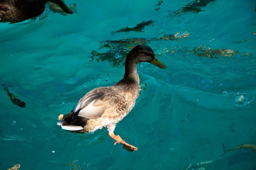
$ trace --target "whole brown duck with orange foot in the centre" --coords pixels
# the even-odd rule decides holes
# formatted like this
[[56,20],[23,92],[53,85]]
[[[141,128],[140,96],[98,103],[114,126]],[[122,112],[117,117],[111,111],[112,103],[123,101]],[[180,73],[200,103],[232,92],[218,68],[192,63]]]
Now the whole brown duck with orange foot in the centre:
[[138,150],[114,134],[120,122],[134,108],[140,94],[140,78],[137,73],[139,62],[149,62],[159,68],[166,65],[160,62],[148,45],[137,45],[125,58],[124,77],[110,87],[98,87],[84,95],[70,113],[58,116],[57,125],[71,133],[93,133],[102,128],[108,129],[108,135],[116,144],[130,152]]

